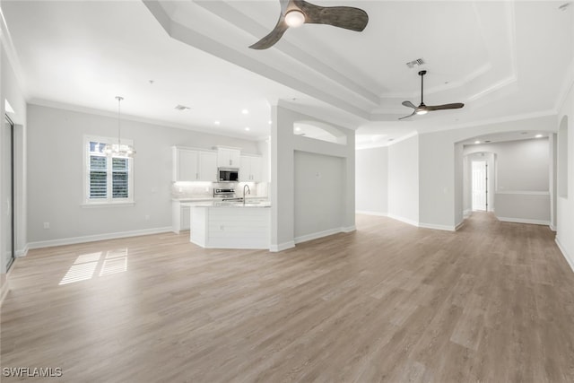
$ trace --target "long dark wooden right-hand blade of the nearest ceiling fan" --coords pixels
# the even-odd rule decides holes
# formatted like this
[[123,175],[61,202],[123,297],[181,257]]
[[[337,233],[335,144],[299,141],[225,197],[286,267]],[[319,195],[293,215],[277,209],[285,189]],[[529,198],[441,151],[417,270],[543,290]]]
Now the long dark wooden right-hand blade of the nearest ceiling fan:
[[360,8],[352,6],[319,6],[305,0],[292,0],[303,13],[307,24],[328,24],[345,30],[364,30],[369,15]]

